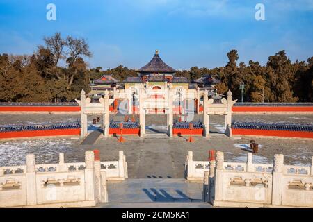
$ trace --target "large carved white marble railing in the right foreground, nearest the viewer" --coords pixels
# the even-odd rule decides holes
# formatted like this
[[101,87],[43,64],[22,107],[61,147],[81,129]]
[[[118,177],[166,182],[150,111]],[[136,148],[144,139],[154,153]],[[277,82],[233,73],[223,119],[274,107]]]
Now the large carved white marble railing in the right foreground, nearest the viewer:
[[274,164],[224,162],[216,153],[216,167],[204,173],[204,200],[220,207],[313,207],[313,157],[311,166],[284,165],[284,155]]

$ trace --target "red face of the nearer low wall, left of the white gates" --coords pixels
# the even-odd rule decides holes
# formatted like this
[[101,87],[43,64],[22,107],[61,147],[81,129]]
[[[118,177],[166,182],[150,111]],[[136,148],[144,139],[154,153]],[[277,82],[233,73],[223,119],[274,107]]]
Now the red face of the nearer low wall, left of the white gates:
[[79,135],[80,128],[77,129],[62,129],[62,130],[29,130],[29,131],[14,131],[0,133],[0,139],[17,138],[17,137],[49,137],[61,135]]

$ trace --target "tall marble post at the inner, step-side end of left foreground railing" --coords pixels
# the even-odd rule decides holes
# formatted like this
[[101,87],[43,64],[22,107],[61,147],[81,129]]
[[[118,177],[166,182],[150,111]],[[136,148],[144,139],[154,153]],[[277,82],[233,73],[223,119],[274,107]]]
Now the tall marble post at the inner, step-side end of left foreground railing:
[[85,152],[85,200],[95,200],[95,153]]

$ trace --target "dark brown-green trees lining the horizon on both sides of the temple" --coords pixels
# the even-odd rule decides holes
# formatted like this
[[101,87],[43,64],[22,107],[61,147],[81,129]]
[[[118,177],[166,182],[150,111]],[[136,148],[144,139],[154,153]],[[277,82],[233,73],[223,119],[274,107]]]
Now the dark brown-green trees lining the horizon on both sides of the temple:
[[[90,91],[90,81],[112,74],[120,81],[137,76],[136,70],[122,65],[113,69],[88,68],[85,58],[92,56],[83,38],[55,33],[44,37],[32,55],[0,54],[0,101],[65,102],[74,101],[81,89]],[[216,89],[226,94],[230,89],[235,99],[241,98],[241,82],[245,84],[244,101],[248,102],[313,102],[313,57],[291,62],[286,51],[268,57],[266,65],[250,60],[239,62],[236,50],[227,53],[224,67],[208,69],[191,67],[177,71],[191,82],[204,74],[220,80]],[[61,65],[61,63],[63,63]]]

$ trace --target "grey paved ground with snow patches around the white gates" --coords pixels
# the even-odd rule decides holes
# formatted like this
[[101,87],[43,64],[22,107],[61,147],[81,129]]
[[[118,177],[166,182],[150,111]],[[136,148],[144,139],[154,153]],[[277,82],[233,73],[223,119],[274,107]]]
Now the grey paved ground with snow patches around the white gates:
[[[88,117],[88,130],[95,130]],[[175,117],[177,118],[177,117]],[[80,119],[79,114],[0,114],[1,124],[30,124],[72,122]],[[123,116],[111,119],[122,121]],[[194,121],[202,119],[195,115]],[[233,115],[234,121],[265,121],[298,124],[313,124],[312,115]],[[207,160],[209,150],[223,151],[227,162],[246,162],[251,137],[226,137],[223,135],[224,118],[210,118],[210,139],[195,137],[195,142],[186,142],[187,137],[139,137],[127,136],[125,143],[115,137],[101,138],[94,145],[80,145],[79,137],[47,137],[0,140],[0,166],[24,164],[27,153],[35,153],[38,164],[58,161],[58,153],[65,153],[65,162],[83,161],[86,150],[99,149],[101,160],[118,158],[118,151],[124,151],[129,178],[184,178],[184,162],[188,151],[193,151],[194,160]],[[166,115],[147,115],[147,128],[161,129],[166,125]],[[253,161],[272,163],[277,153],[284,154],[286,164],[309,165],[313,155],[312,139],[280,139],[255,137],[259,153]]]

